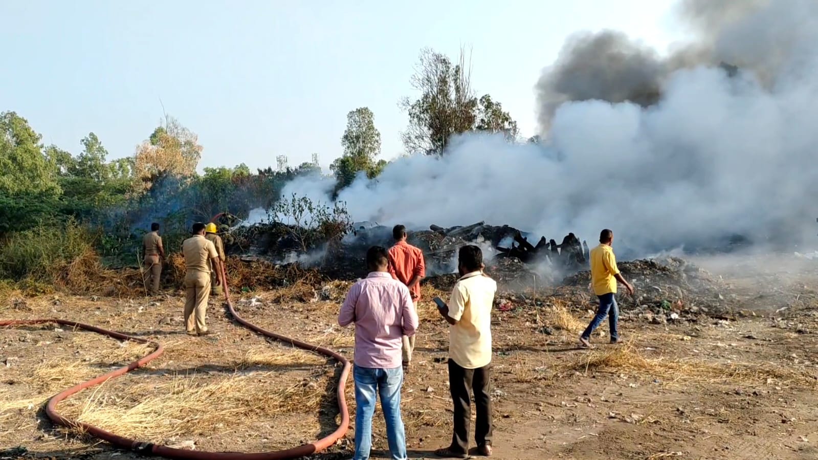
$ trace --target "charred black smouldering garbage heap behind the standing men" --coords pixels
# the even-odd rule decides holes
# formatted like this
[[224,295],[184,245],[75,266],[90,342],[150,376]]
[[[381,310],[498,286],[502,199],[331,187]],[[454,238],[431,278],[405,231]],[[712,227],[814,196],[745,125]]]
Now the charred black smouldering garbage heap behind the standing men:
[[[227,255],[248,262],[299,264],[335,279],[366,276],[366,250],[394,242],[392,228],[377,223],[353,223],[345,235],[335,232],[333,238],[326,237],[326,229],[320,226],[303,228],[275,221],[245,225],[229,217],[221,214],[217,219]],[[532,243],[532,237],[508,225],[478,222],[451,228],[430,225],[428,230],[408,232],[407,241],[423,251],[427,277],[456,273],[457,250],[469,244],[483,249],[487,273],[510,287],[550,284],[557,281],[557,273],[573,273],[587,266],[587,243],[573,233],[561,244],[546,237]]]

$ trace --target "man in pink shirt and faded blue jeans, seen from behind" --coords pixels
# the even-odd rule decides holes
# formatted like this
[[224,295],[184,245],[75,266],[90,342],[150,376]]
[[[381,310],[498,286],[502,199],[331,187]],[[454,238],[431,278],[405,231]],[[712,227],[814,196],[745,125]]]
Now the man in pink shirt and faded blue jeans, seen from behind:
[[355,456],[366,460],[372,446],[372,414],[380,395],[386,439],[393,460],[407,458],[401,419],[401,337],[414,336],[417,313],[409,289],[389,276],[389,255],[381,246],[366,251],[369,276],[353,284],[341,306],[338,323],[355,323]]

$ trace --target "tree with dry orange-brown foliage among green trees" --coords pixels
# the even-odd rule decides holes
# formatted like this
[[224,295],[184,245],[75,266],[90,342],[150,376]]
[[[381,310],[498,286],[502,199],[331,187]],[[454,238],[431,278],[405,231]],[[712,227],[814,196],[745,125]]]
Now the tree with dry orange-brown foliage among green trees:
[[192,176],[199,165],[202,146],[199,137],[170,116],[156,128],[151,138],[137,147],[133,173],[150,187],[162,175]]

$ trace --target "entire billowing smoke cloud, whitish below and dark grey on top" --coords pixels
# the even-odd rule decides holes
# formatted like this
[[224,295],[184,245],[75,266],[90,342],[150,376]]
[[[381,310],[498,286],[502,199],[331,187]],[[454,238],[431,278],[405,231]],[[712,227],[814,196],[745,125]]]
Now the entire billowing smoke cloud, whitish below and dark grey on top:
[[[814,240],[818,2],[695,0],[679,13],[696,39],[664,57],[618,32],[569,38],[536,85],[546,142],[466,134],[339,200],[384,225],[485,220],[591,244],[612,228],[630,256],[734,234]],[[299,178],[285,195],[326,202],[332,185]]]

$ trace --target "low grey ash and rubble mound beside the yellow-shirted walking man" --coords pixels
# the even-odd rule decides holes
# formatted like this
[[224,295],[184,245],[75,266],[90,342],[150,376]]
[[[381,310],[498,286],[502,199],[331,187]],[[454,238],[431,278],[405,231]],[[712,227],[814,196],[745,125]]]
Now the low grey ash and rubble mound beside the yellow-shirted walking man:
[[[699,314],[721,316],[732,312],[735,302],[722,292],[721,278],[677,257],[619,262],[619,271],[636,289],[635,295],[618,295],[624,315],[636,314],[652,322],[667,322]],[[564,286],[588,290],[591,273],[582,271],[564,278]],[[618,291],[623,292],[620,288]],[[590,300],[590,296],[589,296]]]

